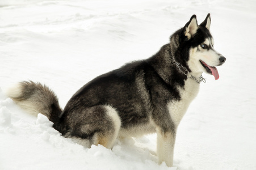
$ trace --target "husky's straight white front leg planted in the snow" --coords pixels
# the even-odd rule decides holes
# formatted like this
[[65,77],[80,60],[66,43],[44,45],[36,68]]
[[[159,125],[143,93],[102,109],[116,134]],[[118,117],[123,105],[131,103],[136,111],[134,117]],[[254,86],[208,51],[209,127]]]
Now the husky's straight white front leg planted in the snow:
[[173,166],[175,136],[175,130],[163,131],[162,128],[157,128],[157,156],[159,164],[165,162],[168,167]]

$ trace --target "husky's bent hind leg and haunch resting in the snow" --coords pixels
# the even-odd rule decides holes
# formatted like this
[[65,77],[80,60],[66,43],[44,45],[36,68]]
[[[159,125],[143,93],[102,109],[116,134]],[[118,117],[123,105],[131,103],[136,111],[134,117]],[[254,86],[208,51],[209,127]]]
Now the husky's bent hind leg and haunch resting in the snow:
[[85,146],[102,145],[112,148],[119,134],[121,121],[116,109],[109,105],[98,105],[82,111],[81,117],[70,117],[74,130],[69,138]]

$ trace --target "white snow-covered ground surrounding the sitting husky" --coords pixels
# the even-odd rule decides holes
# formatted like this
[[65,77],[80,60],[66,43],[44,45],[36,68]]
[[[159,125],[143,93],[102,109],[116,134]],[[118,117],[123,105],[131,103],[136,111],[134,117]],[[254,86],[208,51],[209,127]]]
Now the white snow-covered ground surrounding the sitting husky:
[[[256,169],[256,2],[253,0],[1,0],[0,169]],[[203,75],[178,128],[174,168],[158,165],[156,135],[83,148],[4,91],[21,80],[47,84],[65,106],[83,84],[156,53],[192,14],[211,13],[220,79]]]

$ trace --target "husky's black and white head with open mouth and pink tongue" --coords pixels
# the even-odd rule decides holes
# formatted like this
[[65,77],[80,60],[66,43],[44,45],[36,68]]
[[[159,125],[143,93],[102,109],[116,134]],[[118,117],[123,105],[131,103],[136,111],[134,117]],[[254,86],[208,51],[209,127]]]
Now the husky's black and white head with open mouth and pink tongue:
[[185,58],[191,73],[212,74],[217,80],[219,73],[216,66],[223,65],[226,58],[213,48],[214,41],[209,32],[210,26],[210,14],[200,25],[198,25],[196,15],[191,16],[190,21],[179,31],[180,46],[177,50],[181,51],[180,57]]

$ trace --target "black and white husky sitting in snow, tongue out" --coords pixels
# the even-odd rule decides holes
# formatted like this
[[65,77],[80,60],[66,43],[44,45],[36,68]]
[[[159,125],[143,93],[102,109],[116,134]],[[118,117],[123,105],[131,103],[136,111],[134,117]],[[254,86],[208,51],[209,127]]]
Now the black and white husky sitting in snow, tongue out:
[[226,60],[213,48],[210,25],[210,14],[200,25],[193,15],[154,56],[91,80],[63,110],[40,83],[18,83],[9,97],[27,112],[44,114],[64,137],[86,147],[112,148],[117,138],[157,133],[159,163],[171,167],[177,128],[205,82],[202,73],[219,79],[216,66]]

